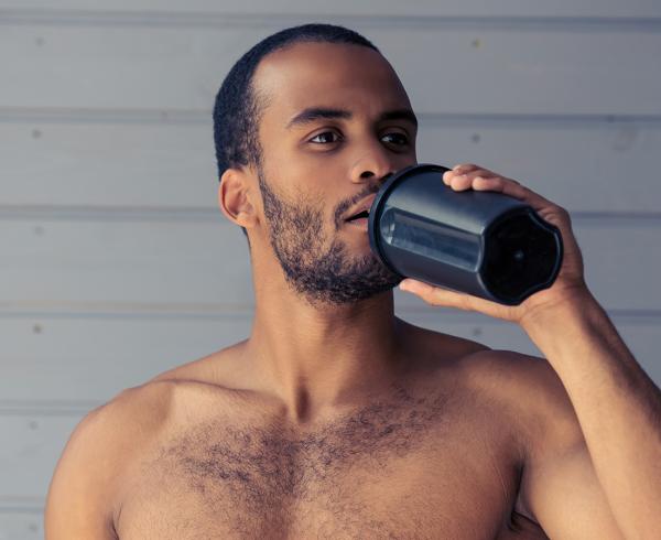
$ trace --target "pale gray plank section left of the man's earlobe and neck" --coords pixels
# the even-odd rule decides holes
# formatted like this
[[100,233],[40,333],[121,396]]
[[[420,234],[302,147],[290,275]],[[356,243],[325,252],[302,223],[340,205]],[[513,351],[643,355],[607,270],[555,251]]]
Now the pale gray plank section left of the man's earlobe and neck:
[[9,303],[252,302],[248,244],[220,215],[209,223],[8,220],[0,245],[0,298]]

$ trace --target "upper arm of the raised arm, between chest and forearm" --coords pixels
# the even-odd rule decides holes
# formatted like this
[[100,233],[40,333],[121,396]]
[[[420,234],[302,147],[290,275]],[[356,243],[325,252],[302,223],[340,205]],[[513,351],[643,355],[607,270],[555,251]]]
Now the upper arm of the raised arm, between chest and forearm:
[[520,500],[550,538],[622,539],[562,381],[546,360],[523,374],[529,415]]

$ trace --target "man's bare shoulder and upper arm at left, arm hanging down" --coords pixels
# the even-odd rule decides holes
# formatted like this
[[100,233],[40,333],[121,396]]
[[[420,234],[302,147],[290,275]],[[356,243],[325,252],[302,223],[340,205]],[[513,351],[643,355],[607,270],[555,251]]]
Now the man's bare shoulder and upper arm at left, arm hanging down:
[[122,471],[165,425],[172,382],[123,390],[76,425],[46,498],[47,539],[115,538],[115,501]]

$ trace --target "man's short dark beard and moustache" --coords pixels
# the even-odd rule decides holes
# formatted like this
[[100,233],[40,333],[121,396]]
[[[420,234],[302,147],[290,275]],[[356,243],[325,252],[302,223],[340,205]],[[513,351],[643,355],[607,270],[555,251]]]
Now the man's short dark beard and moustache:
[[[369,255],[351,257],[346,244],[337,238],[325,248],[328,235],[324,230],[323,207],[277,195],[261,168],[258,168],[258,180],[271,247],[286,282],[311,304],[339,305],[365,300],[391,290],[403,279],[371,250]],[[377,190],[373,187],[361,196]],[[345,201],[336,207],[336,229],[342,210],[350,204]]]

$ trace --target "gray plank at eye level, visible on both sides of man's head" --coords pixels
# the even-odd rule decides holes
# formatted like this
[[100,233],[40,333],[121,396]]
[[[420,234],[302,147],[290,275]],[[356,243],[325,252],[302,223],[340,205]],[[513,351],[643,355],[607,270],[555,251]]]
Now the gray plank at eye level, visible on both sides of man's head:
[[[420,162],[479,163],[571,212],[659,210],[653,172],[661,125],[421,120]],[[0,149],[1,205],[217,208],[210,117],[206,123],[0,122]]]

